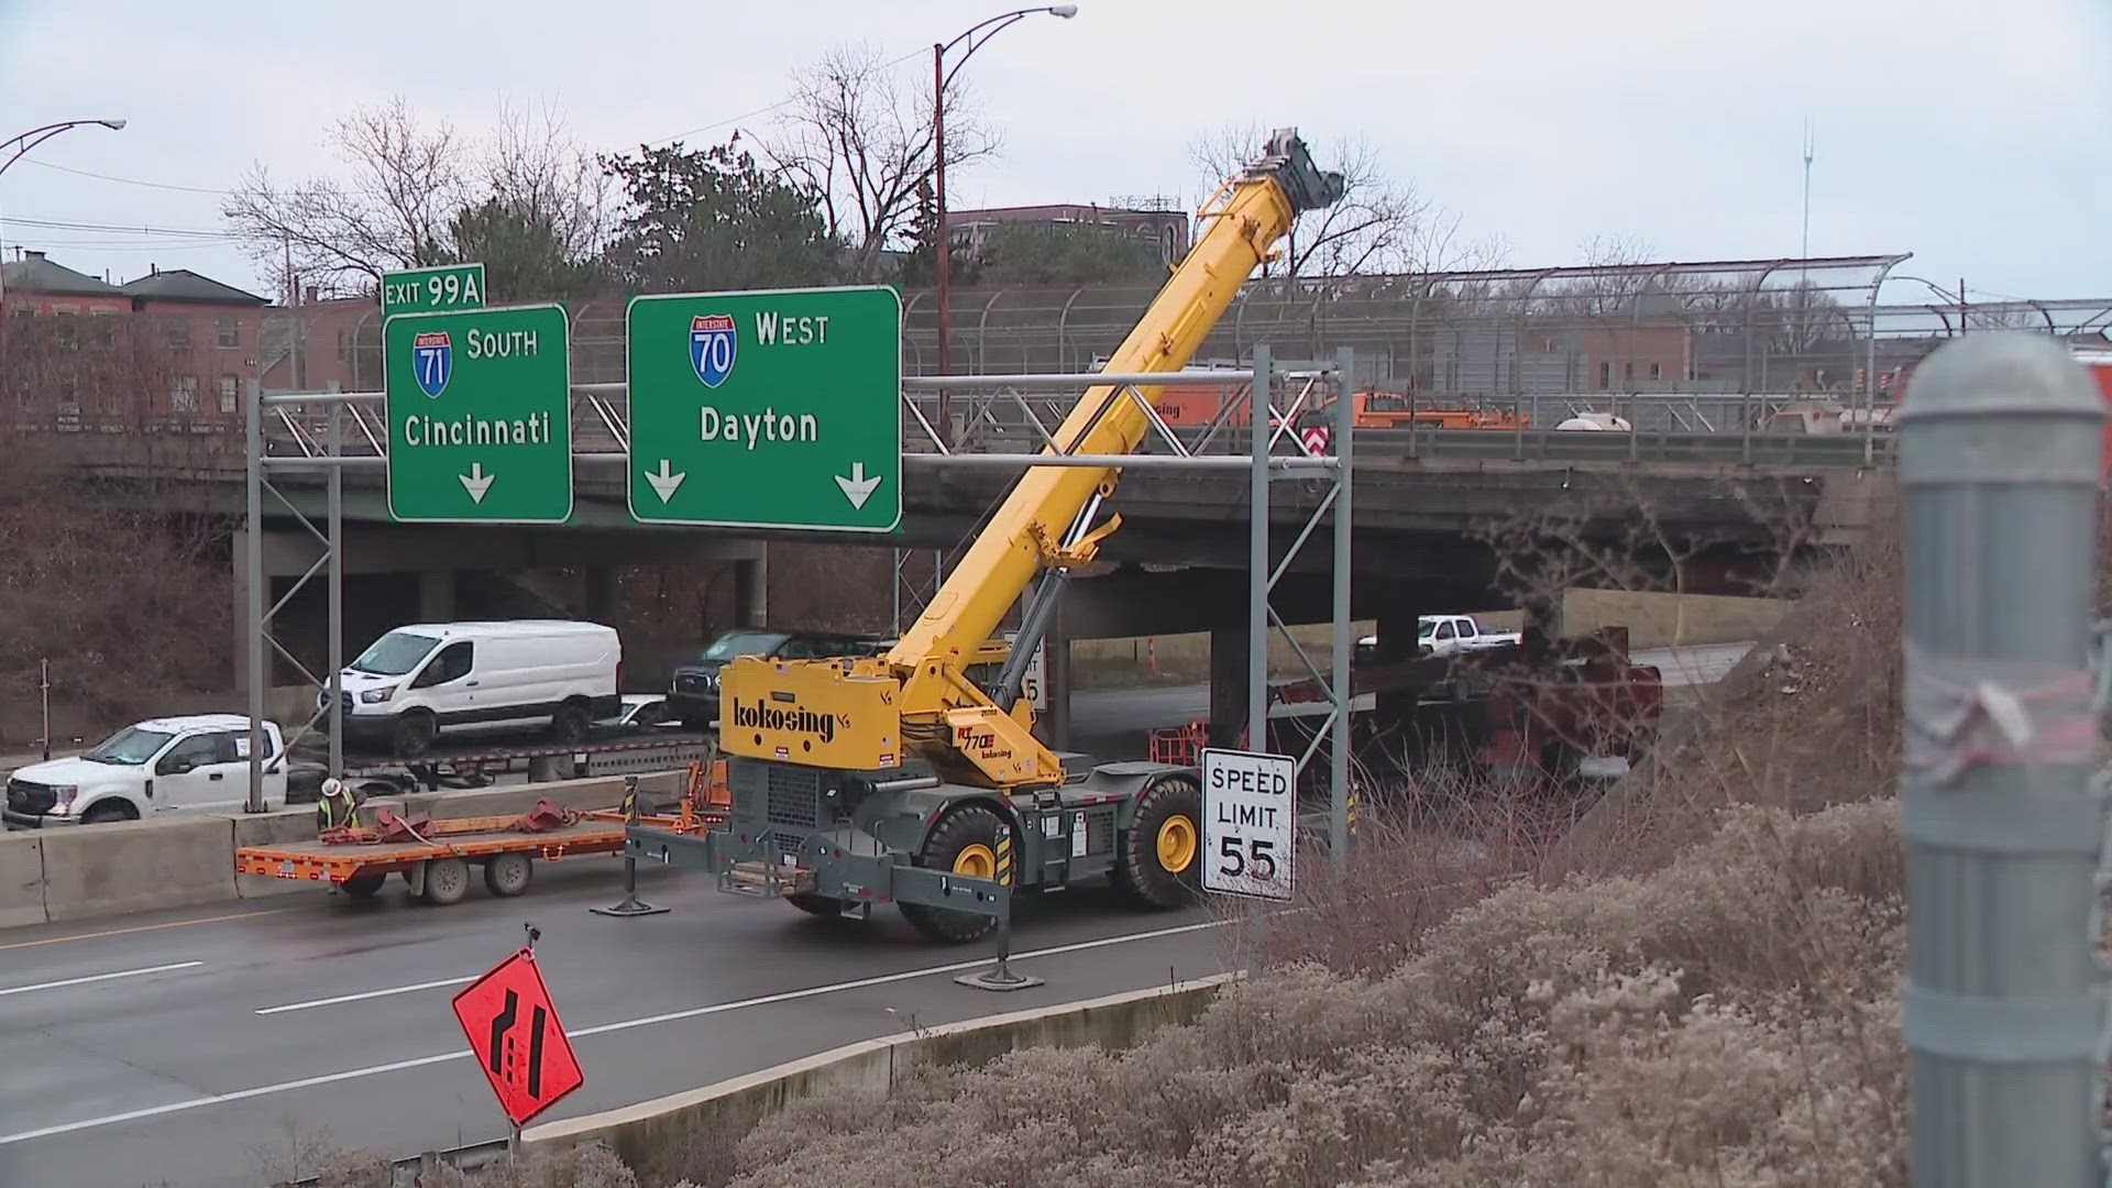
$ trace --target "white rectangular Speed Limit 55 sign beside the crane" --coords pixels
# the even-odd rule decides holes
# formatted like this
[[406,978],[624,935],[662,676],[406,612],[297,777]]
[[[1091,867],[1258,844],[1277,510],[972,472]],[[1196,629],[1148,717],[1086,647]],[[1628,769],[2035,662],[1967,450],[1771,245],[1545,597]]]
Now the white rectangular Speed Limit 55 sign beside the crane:
[[1202,753],[1202,886],[1248,898],[1290,898],[1299,765],[1288,755]]

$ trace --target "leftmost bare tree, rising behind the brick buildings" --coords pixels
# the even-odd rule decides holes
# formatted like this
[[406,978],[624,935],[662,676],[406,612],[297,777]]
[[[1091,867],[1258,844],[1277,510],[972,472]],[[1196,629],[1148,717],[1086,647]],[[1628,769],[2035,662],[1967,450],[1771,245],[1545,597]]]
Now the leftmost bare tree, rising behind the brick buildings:
[[359,292],[441,260],[448,220],[475,192],[471,146],[446,120],[425,127],[401,97],[353,110],[327,135],[344,178],[287,186],[258,165],[222,205],[264,273],[291,254],[304,281]]

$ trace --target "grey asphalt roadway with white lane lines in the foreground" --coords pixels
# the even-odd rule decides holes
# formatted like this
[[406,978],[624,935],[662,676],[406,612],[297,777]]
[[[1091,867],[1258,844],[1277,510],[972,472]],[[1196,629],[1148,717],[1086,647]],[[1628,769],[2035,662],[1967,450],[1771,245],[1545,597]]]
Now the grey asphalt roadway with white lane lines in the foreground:
[[1233,962],[1208,907],[1138,913],[1098,888],[1020,905],[1014,964],[919,941],[900,913],[811,920],[640,871],[665,915],[608,920],[612,858],[543,865],[522,898],[454,907],[289,894],[230,911],[0,932],[0,1184],[251,1188],[298,1139],[403,1156],[507,1122],[448,1000],[541,928],[536,962],[585,1087],[543,1118],[695,1089],[914,1025],[1166,985]]

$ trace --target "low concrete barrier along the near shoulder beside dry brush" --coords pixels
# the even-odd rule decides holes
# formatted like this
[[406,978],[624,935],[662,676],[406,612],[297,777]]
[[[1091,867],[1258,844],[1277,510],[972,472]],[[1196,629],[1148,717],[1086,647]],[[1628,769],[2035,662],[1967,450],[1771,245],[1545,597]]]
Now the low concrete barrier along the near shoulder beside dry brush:
[[917,1068],[980,1065],[1033,1046],[1126,1048],[1168,1023],[1193,1023],[1219,989],[1238,979],[1219,974],[845,1044],[703,1089],[530,1127],[522,1146],[534,1152],[600,1141],[629,1167],[650,1169],[659,1152],[689,1135],[724,1135],[731,1141],[790,1101],[834,1091],[883,1095]]

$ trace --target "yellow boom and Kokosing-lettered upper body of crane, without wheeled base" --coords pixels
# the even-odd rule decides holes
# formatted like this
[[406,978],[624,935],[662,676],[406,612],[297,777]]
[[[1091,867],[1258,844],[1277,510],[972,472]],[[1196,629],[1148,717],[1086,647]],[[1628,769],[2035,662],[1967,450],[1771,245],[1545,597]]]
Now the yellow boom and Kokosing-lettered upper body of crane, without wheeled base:
[[[1107,370],[1181,370],[1293,220],[1337,201],[1341,190],[1341,175],[1314,167],[1295,129],[1276,131],[1263,154],[1202,211],[1193,249]],[[1159,389],[1140,395],[1155,404]],[[1115,385],[1096,385],[1056,429],[1052,448],[1128,454],[1147,429],[1149,416],[1134,400]],[[965,670],[1043,567],[1069,569],[1092,558],[1098,539],[1119,522],[1088,531],[1098,499],[1113,493],[1117,478],[1119,467],[1029,469],[885,657],[729,664],[722,746],[754,759],[849,769],[885,769],[917,755],[950,782],[1060,784],[1062,763],[1033,736],[1031,708],[995,704]]]

